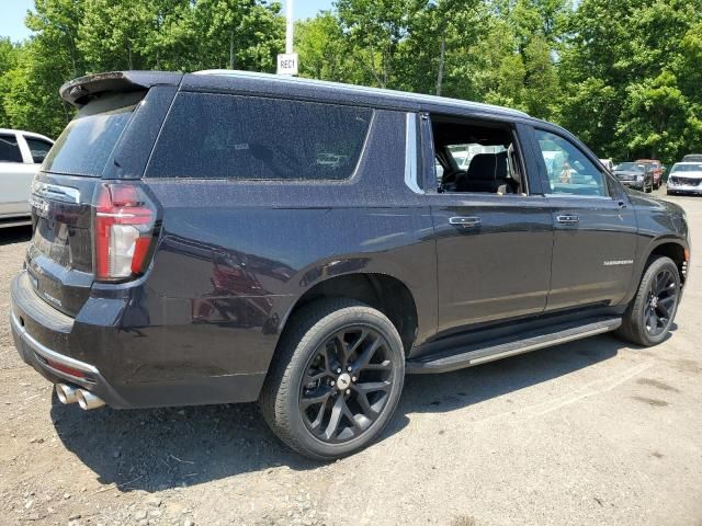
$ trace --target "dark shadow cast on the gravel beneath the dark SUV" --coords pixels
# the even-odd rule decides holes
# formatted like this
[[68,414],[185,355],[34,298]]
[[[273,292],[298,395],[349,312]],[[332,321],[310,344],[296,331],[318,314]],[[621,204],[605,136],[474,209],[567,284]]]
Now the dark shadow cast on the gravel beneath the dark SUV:
[[[624,346],[604,335],[455,373],[408,376],[381,439],[401,432],[412,413],[449,412],[548,381],[609,359]],[[253,403],[83,412],[54,397],[52,420],[66,448],[100,482],[120,491],[159,491],[279,466],[322,466],[283,446]]]

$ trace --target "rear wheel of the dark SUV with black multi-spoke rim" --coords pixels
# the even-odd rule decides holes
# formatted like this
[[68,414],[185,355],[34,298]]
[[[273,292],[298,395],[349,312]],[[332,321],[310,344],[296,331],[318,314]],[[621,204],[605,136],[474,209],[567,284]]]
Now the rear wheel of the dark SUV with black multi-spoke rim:
[[287,446],[333,460],[381,434],[404,380],[405,352],[390,320],[359,301],[331,298],[291,317],[259,402]]

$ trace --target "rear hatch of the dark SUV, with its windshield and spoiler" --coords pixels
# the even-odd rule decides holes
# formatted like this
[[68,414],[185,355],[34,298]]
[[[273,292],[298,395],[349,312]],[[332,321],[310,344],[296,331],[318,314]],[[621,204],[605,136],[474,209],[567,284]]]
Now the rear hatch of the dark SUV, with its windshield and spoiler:
[[149,90],[126,75],[83,78],[61,89],[80,110],[32,184],[34,235],[26,268],[37,294],[71,317],[95,282],[95,210],[105,175],[118,173],[115,152]]

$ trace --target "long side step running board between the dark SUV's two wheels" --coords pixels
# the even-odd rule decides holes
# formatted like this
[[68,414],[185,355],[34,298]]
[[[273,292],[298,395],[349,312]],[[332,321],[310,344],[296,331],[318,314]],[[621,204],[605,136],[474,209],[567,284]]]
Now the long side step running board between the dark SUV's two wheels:
[[[406,370],[409,374],[448,373],[450,370],[472,367],[495,359],[602,334],[618,329],[621,324],[621,318],[605,318],[584,325],[546,328],[541,333],[532,332],[522,335],[519,340],[510,339],[509,341],[488,342],[480,347],[474,347],[455,354],[442,353],[441,356],[430,355],[409,359],[407,361]],[[550,329],[551,332],[548,332]]]

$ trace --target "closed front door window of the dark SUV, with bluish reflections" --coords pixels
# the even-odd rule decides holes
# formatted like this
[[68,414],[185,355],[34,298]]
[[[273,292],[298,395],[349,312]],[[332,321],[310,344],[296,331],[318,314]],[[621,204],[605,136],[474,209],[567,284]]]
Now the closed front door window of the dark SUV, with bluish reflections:
[[550,132],[534,133],[546,164],[547,193],[609,196],[604,175],[577,146]]

